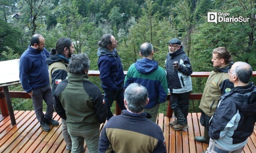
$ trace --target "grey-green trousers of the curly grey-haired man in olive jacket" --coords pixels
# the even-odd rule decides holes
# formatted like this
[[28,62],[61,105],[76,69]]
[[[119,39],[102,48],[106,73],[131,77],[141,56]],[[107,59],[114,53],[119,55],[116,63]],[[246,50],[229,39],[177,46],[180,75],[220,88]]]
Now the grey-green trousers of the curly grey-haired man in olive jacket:
[[71,153],[80,153],[83,150],[84,140],[89,153],[98,153],[98,143],[100,140],[100,125],[90,130],[73,130],[68,128],[68,133],[72,140]]

